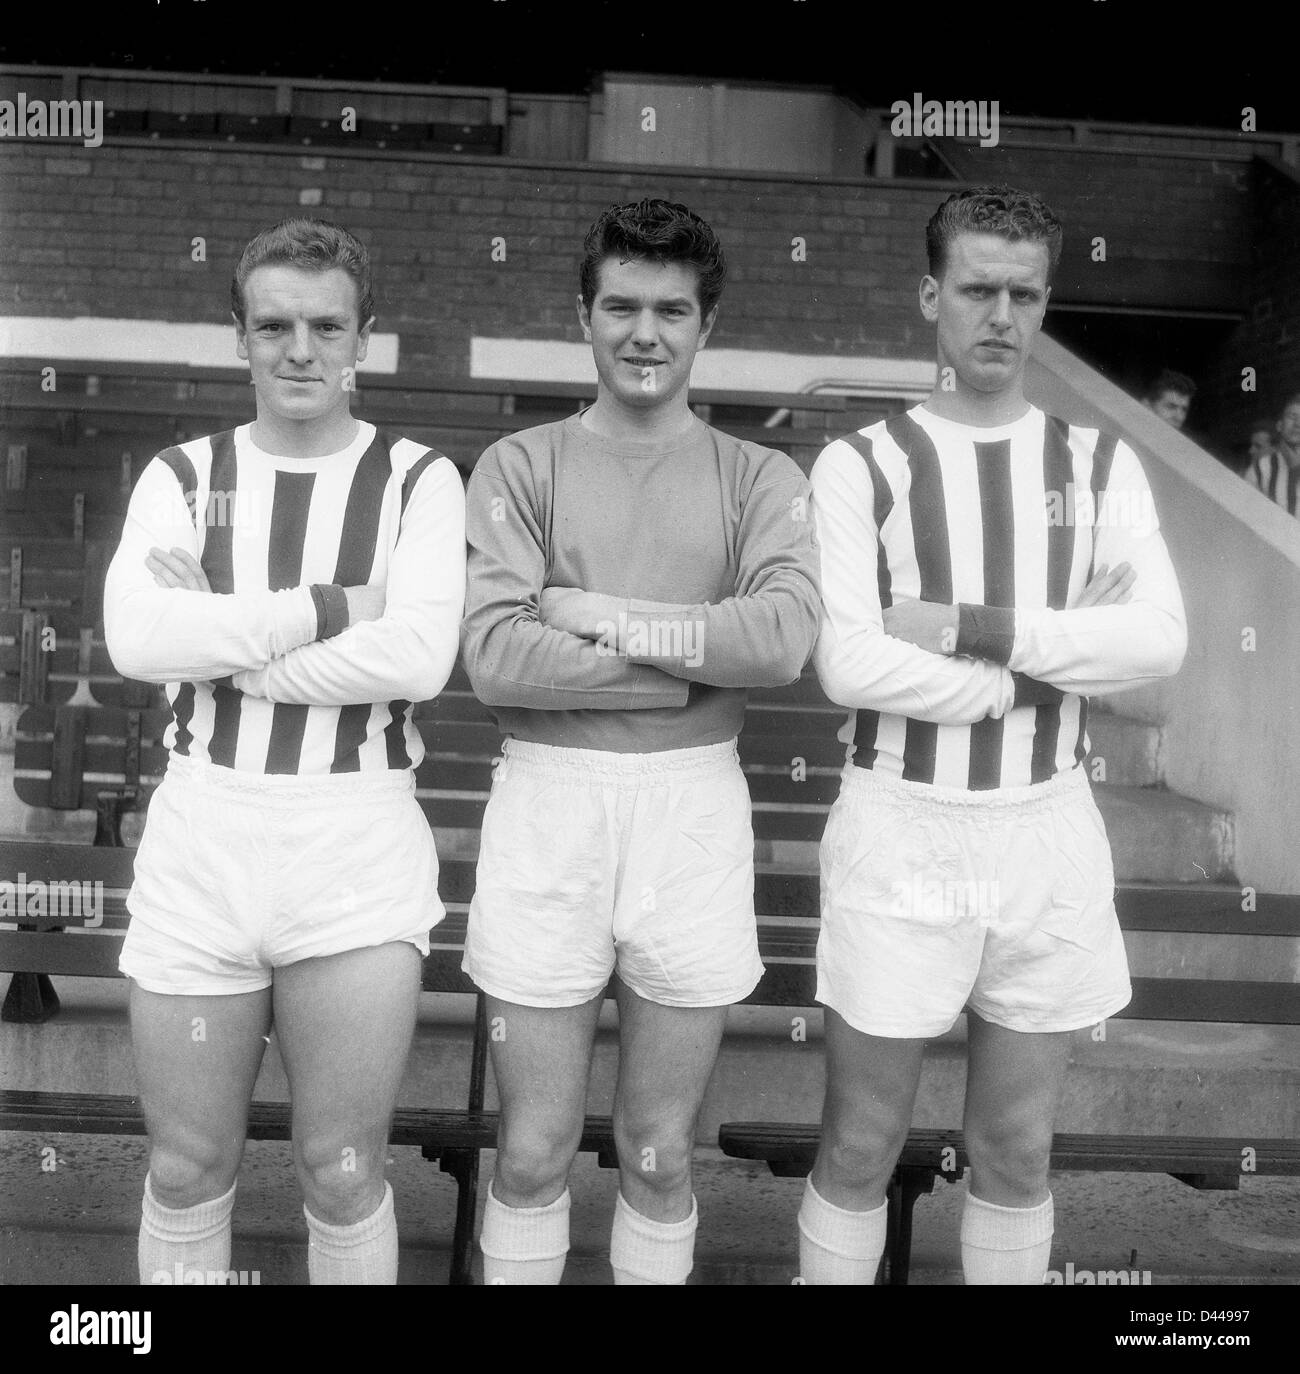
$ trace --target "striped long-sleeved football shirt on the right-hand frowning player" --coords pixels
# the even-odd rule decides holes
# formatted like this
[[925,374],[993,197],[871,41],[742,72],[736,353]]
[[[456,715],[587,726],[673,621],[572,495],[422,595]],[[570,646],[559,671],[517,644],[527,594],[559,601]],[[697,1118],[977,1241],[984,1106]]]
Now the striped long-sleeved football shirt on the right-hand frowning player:
[[[1114,437],[1029,411],[974,427],[925,407],[830,444],[812,471],[826,618],[815,662],[860,768],[966,790],[1042,783],[1088,749],[1087,697],[1176,671],[1182,598],[1150,488]],[[1094,567],[1138,577],[1071,609]],[[963,607],[955,654],[884,632],[900,598]]]

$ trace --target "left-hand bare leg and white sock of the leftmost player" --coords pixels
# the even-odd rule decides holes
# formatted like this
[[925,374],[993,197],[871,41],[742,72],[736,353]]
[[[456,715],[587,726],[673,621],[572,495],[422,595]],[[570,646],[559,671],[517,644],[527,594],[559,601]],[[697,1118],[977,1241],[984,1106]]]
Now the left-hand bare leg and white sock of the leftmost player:
[[148,1128],[142,1283],[229,1270],[235,1175],[269,1024],[269,988],[168,996],[132,980],[131,1040]]

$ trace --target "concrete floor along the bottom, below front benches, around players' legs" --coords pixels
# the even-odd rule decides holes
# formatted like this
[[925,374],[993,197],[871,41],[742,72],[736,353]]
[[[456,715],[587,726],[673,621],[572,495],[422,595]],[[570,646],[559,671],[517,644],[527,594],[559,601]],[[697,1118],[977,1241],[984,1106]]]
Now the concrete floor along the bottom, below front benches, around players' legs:
[[[247,1147],[235,1202],[235,1270],[305,1283],[305,1224],[289,1145]],[[51,1161],[54,1164],[51,1169]],[[482,1176],[492,1172],[484,1157]],[[133,1283],[144,1142],[12,1132],[0,1136],[0,1282]],[[394,1147],[389,1178],[401,1235],[401,1283],[444,1283],[455,1184],[415,1149]],[[914,1283],[959,1283],[963,1184],[917,1204]],[[616,1179],[583,1157],[573,1171],[566,1283],[603,1285]],[[693,1283],[789,1285],[803,1182],[701,1149]],[[1053,1180],[1053,1270],[1136,1270],[1152,1285],[1300,1283],[1300,1179],[1246,1179],[1197,1193],[1165,1176],[1061,1173]],[[1071,1268],[1072,1267],[1072,1268]],[[1150,1278],[1146,1279],[1146,1272]]]

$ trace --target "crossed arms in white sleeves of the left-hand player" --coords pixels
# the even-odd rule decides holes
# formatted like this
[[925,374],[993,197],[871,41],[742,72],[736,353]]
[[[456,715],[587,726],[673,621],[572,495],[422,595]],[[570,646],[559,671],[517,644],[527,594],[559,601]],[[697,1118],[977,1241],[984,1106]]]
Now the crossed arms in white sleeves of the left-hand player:
[[425,701],[451,675],[464,605],[464,497],[449,460],[415,484],[383,587],[213,592],[199,556],[180,484],[155,459],[132,493],[104,583],[104,638],[125,676],[229,675],[247,695],[346,706]]

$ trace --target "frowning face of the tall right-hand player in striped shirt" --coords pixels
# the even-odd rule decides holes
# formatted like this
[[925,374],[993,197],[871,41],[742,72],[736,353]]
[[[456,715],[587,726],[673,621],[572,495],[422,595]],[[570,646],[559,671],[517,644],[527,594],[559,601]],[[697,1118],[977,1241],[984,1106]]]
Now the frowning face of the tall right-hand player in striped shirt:
[[959,234],[943,276],[921,283],[921,313],[939,324],[940,368],[976,392],[1018,387],[1051,294],[1047,267],[1046,243]]

